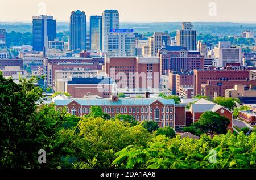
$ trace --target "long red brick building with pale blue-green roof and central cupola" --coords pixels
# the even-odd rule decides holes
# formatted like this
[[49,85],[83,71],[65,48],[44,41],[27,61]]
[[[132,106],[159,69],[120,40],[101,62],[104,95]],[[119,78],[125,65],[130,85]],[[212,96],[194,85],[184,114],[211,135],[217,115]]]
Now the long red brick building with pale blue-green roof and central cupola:
[[117,114],[132,115],[136,121],[156,121],[159,127],[185,126],[185,105],[163,98],[98,98],[55,100],[56,109],[67,107],[69,113],[82,116],[91,106],[101,106],[103,112],[114,118]]

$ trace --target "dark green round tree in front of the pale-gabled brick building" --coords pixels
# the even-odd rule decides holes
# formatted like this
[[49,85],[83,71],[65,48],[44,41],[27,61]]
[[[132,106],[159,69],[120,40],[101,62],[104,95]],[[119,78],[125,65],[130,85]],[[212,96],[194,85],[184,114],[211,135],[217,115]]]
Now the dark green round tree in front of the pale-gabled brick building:
[[216,112],[205,112],[200,116],[198,124],[203,132],[225,134],[230,121]]

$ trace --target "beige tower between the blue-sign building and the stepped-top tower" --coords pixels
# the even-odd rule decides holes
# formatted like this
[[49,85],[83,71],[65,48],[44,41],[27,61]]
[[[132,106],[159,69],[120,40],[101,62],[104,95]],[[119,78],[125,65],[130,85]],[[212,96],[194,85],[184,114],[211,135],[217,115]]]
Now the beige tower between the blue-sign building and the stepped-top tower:
[[170,45],[170,35],[163,32],[155,32],[153,35],[153,55],[158,53],[158,50],[162,48],[163,41],[166,45]]

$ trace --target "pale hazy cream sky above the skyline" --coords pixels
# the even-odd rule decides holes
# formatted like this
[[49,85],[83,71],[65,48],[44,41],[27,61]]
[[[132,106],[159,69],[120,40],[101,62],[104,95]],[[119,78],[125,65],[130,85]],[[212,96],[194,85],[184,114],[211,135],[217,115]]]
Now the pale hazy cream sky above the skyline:
[[1,0],[0,21],[31,21],[42,12],[68,21],[77,9],[89,19],[117,9],[121,22],[256,22],[255,7],[256,0]]

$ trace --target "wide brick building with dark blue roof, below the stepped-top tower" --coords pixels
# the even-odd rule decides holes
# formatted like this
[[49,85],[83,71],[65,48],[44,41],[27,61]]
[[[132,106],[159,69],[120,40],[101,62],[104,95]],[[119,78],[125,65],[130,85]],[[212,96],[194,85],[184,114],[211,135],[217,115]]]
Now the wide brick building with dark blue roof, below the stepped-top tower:
[[204,69],[204,56],[200,52],[188,51],[182,46],[163,46],[158,50],[161,73],[166,70],[189,72]]

